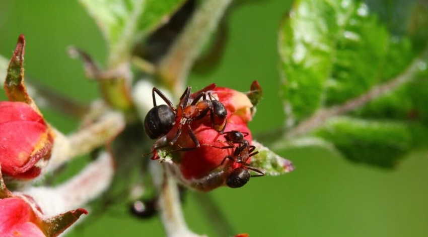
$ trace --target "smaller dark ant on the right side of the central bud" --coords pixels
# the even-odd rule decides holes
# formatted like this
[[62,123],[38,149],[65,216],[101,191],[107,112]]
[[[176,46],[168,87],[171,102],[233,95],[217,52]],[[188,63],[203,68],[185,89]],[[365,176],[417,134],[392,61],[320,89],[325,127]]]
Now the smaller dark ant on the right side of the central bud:
[[[230,146],[225,147],[217,147],[220,149],[229,149],[235,148],[232,155],[227,155],[219,164],[223,165],[227,159],[232,160],[238,164],[241,164],[240,167],[234,168],[232,172],[226,179],[226,185],[230,188],[240,188],[244,186],[249,180],[250,177],[260,177],[264,175],[264,172],[260,169],[249,166],[247,160],[253,156],[258,154],[258,151],[254,151],[256,149],[255,146],[250,145],[250,143],[244,138],[249,135],[249,133],[239,132],[239,131],[229,131],[225,133],[226,142],[230,144]],[[238,146],[234,144],[239,144]],[[211,145],[210,145],[211,146]],[[216,147],[216,146],[213,146]],[[259,174],[250,174],[249,170],[253,170]]]

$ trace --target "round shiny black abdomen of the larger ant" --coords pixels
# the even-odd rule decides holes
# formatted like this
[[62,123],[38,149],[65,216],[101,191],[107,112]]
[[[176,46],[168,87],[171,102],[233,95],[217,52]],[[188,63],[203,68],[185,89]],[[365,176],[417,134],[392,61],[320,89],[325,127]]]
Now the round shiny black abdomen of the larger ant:
[[144,121],[144,129],[151,139],[166,135],[175,124],[175,113],[168,105],[162,104],[149,110]]

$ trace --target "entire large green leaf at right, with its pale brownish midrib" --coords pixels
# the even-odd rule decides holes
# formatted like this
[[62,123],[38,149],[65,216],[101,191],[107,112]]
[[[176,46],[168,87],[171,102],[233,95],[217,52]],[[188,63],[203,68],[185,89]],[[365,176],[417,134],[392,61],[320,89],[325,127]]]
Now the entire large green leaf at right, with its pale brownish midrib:
[[[421,145],[416,140],[428,121],[428,77],[422,76],[428,6],[401,2],[296,2],[279,36],[291,129],[321,126],[315,135],[347,158],[386,167]],[[356,117],[337,117],[346,113]],[[299,144],[293,139],[301,137],[277,144]]]

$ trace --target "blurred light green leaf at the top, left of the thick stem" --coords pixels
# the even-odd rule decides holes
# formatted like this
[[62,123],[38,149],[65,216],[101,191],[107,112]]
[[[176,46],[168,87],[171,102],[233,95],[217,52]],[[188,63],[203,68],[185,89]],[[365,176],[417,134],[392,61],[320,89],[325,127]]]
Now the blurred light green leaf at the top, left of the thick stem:
[[79,0],[107,41],[109,67],[122,63],[135,42],[167,22],[184,0]]

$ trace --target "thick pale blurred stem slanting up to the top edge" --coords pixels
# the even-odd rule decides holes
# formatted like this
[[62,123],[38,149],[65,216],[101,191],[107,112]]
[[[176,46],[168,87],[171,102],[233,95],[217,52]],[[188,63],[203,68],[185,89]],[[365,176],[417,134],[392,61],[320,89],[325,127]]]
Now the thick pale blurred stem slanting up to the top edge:
[[204,0],[159,64],[158,73],[176,95],[184,90],[190,70],[232,0]]

